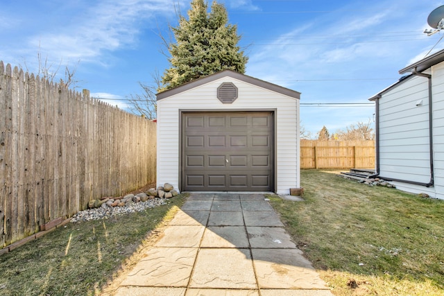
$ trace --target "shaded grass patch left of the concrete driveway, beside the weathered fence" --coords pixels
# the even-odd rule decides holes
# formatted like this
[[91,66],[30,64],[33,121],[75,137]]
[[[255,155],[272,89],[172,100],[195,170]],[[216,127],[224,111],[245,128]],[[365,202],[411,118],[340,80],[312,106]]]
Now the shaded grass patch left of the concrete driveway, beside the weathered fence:
[[171,220],[185,201],[83,223],[69,223],[0,256],[0,295],[100,294],[137,262],[148,235]]

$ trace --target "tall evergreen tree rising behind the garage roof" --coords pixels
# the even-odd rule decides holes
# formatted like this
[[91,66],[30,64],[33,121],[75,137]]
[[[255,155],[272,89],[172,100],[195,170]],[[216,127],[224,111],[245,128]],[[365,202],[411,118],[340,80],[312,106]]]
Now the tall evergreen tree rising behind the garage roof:
[[172,28],[176,44],[169,46],[171,67],[162,77],[160,92],[225,69],[245,73],[248,58],[237,46],[237,26],[228,24],[223,4],[213,1],[210,12],[207,8],[204,0],[193,0],[189,19],[180,17]]

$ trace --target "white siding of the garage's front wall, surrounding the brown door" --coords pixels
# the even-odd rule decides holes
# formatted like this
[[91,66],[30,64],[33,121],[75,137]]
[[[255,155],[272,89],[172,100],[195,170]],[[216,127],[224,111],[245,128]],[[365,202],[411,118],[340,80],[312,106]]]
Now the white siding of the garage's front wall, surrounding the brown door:
[[[233,82],[239,97],[231,104],[216,98],[216,89],[223,82]],[[276,192],[289,194],[300,186],[298,155],[299,100],[250,85],[234,78],[220,78],[180,94],[157,101],[157,184],[169,182],[179,186],[180,110],[276,110]]]

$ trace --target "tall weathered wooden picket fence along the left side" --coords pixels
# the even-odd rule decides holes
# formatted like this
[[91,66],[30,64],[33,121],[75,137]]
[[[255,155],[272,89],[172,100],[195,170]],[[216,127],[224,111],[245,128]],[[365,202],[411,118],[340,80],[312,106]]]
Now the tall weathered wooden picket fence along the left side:
[[0,62],[0,248],[155,182],[155,123]]

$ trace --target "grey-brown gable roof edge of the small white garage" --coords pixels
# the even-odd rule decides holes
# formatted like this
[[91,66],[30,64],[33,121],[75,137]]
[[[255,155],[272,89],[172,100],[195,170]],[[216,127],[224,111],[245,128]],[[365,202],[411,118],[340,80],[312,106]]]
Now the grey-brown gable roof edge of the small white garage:
[[162,100],[162,98],[168,98],[169,96],[180,94],[181,92],[185,92],[189,89],[193,89],[200,85],[205,85],[208,82],[212,82],[214,80],[218,80],[224,77],[231,77],[237,80],[247,82],[251,85],[256,85],[257,87],[262,87],[264,89],[271,90],[272,92],[277,92],[279,94],[284,94],[285,96],[291,96],[292,98],[300,99],[300,92],[296,92],[292,89],[287,89],[286,87],[281,87],[280,85],[275,85],[273,83],[266,82],[264,80],[260,80],[251,76],[246,76],[245,74],[241,74],[232,70],[223,70],[202,78],[198,78],[196,80],[192,80],[178,87],[174,87],[164,92],[160,92],[155,96],[157,98],[157,101],[159,101]]

